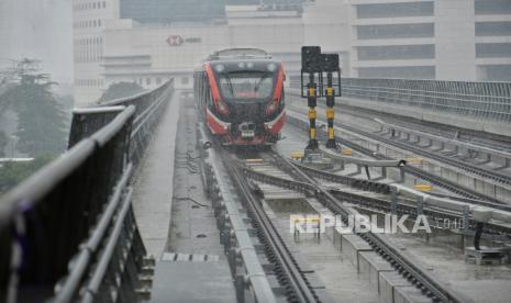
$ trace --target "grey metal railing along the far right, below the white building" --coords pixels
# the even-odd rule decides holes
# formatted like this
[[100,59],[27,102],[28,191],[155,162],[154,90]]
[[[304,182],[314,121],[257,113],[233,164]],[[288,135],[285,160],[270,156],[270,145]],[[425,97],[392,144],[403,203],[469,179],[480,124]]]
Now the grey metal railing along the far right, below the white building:
[[[291,87],[299,88],[299,79]],[[343,97],[471,119],[511,122],[511,82],[343,78]]]

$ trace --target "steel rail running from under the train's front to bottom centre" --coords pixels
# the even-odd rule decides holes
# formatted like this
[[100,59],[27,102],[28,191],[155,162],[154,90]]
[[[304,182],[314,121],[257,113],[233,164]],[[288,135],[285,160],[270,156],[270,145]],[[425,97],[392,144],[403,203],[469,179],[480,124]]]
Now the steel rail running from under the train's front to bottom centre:
[[[244,197],[249,213],[253,215],[256,226],[262,233],[263,239],[270,247],[274,252],[273,257],[276,258],[276,262],[284,270],[285,277],[290,283],[286,287],[288,291],[288,300],[290,302],[321,302],[318,294],[310,287],[310,282],[301,272],[298,262],[295,260],[288,247],[281,239],[279,232],[263,210],[260,202],[257,201],[252,193],[246,181],[246,176],[236,167],[235,161],[231,162],[229,159],[225,159],[224,156],[223,162],[236,189]],[[290,291],[292,294],[289,293]]]

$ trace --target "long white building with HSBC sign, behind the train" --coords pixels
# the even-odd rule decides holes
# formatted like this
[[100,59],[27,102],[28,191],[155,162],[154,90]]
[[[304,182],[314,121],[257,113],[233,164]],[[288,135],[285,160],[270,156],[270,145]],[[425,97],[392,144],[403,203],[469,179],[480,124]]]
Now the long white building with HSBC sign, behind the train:
[[[209,23],[155,24],[121,19],[121,2],[74,1],[75,82],[77,104],[99,99],[111,83],[137,82],[154,88],[169,77],[191,86],[191,72],[209,54],[229,47],[259,47],[299,72],[301,46],[327,37],[325,50],[347,57],[348,43],[338,40],[345,19],[334,0],[320,0],[333,10],[327,19],[315,5],[304,12],[226,7],[225,19]],[[314,25],[316,24],[316,25]],[[306,27],[313,31],[306,31]],[[318,33],[316,31],[323,31]],[[348,31],[342,31],[346,36]],[[348,60],[344,60],[348,64]]]

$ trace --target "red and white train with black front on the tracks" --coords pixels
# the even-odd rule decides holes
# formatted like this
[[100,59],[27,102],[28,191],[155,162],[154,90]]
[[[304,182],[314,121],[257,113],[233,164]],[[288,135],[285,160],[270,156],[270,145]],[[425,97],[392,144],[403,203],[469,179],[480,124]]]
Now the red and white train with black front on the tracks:
[[271,145],[286,120],[281,61],[257,48],[210,55],[193,74],[201,119],[223,145]]

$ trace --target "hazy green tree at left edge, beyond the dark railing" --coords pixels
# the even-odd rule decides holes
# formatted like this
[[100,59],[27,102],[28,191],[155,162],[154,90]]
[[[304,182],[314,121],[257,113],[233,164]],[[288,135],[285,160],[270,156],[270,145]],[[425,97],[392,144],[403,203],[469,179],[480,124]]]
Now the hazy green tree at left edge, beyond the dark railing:
[[18,113],[16,149],[32,157],[59,154],[66,148],[68,119],[52,92],[56,82],[41,74],[36,60],[24,59],[13,68],[15,83],[0,97],[0,104]]

